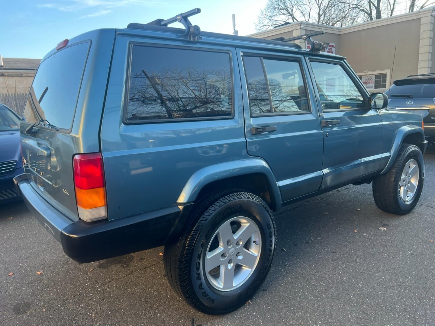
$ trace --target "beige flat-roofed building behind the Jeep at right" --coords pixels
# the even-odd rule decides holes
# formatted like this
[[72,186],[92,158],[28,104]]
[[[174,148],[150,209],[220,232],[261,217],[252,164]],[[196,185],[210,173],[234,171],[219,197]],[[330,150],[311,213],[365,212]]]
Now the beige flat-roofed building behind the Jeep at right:
[[[435,73],[435,62],[432,63],[434,17],[435,8],[430,7],[342,28],[300,22],[249,36],[289,38],[324,30],[325,35],[313,39],[331,43],[328,52],[346,57],[370,92],[383,92],[394,80],[418,73]],[[306,48],[305,41],[295,43]]]

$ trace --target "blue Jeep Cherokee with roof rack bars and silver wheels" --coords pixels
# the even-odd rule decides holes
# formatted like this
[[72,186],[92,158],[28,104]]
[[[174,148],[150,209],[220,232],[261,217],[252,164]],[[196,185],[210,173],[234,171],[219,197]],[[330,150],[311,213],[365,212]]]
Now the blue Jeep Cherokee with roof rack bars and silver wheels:
[[[187,19],[197,12],[50,51],[20,123],[25,173],[14,181],[72,259],[164,245],[174,290],[222,314],[271,267],[272,212],[373,182],[381,210],[406,214],[427,142],[420,114],[388,110],[325,44],[201,33]],[[185,29],[167,27],[175,21]]]

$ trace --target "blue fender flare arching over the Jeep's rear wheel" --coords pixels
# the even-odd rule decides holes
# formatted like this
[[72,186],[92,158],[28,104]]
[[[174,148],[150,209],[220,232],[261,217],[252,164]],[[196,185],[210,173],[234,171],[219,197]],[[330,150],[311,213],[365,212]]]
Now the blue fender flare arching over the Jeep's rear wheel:
[[276,210],[280,209],[281,193],[278,183],[269,165],[261,158],[218,163],[197,170],[189,180],[187,180],[186,185],[178,197],[177,203],[194,202],[201,189],[211,182],[252,173],[260,173],[266,177],[268,186],[270,187],[269,191],[271,192],[272,203],[276,207]]

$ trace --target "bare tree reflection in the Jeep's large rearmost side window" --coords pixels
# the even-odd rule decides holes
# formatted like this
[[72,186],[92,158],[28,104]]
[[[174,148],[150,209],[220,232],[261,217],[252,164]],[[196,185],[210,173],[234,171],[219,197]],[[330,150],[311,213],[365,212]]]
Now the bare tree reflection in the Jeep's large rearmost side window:
[[231,112],[228,69],[168,67],[130,77],[129,119],[216,116]]

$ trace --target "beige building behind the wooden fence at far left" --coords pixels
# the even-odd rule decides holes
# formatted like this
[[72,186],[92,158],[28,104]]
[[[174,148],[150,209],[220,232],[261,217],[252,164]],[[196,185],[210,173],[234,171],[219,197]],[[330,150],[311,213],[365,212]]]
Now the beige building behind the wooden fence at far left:
[[0,57],[0,103],[21,115],[40,61]]

